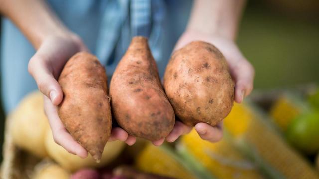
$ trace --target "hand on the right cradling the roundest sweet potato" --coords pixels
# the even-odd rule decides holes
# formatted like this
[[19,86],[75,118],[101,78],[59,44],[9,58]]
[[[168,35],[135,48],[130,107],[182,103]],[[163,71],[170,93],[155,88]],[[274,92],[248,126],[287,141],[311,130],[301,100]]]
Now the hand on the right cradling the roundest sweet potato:
[[[197,31],[187,30],[179,38],[175,50],[178,50],[188,43],[196,40],[205,41],[215,45],[225,56],[228,62],[229,70],[235,82],[235,97],[237,103],[241,103],[253,89],[254,68],[242,55],[235,42],[220,35],[204,34]],[[195,125],[195,130],[199,136],[210,142],[218,142],[223,137],[223,124],[220,122],[217,126],[210,126],[206,123],[198,123]],[[179,136],[187,134],[191,131],[191,127],[176,121],[172,132],[166,137],[168,142],[174,142]],[[160,145],[164,139],[153,142],[155,145]]]

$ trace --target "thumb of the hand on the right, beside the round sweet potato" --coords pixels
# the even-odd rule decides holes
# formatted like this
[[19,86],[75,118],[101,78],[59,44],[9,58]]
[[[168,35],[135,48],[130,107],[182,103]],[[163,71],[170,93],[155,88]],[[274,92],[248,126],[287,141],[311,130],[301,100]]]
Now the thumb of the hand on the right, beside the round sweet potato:
[[242,60],[231,68],[231,72],[235,79],[234,99],[237,103],[241,103],[253,89],[255,70],[248,61]]

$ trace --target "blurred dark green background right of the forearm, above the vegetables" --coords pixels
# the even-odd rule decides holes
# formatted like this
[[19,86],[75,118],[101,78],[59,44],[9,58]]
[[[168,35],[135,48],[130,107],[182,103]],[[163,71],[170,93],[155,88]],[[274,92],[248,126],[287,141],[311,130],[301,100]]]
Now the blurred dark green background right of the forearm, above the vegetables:
[[[248,2],[238,45],[255,67],[255,89],[319,82],[318,7],[319,0]],[[4,114],[1,107],[0,121],[2,154]]]

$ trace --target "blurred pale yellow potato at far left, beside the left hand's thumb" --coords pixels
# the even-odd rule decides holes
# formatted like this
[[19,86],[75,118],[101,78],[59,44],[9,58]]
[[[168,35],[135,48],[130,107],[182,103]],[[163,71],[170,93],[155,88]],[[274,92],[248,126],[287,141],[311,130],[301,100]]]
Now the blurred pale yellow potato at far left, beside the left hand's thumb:
[[10,132],[17,146],[38,157],[47,156],[44,140],[49,123],[44,114],[42,93],[36,91],[27,95],[8,120],[11,120]]

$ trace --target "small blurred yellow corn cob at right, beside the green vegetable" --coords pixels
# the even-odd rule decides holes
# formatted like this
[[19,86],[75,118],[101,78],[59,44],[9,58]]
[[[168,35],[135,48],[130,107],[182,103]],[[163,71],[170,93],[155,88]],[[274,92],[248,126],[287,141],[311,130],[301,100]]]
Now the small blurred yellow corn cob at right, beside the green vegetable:
[[272,106],[270,116],[276,125],[285,132],[290,122],[300,113],[307,110],[307,104],[298,97],[286,93]]

